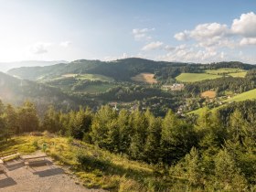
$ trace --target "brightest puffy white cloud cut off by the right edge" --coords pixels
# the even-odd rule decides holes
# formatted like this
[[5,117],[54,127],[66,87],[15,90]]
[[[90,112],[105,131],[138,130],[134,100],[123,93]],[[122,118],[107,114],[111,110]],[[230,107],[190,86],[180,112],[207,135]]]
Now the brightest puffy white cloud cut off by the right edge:
[[253,12],[242,14],[233,20],[231,30],[242,37],[256,37],[256,15]]

